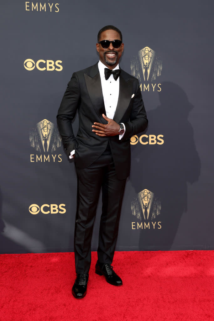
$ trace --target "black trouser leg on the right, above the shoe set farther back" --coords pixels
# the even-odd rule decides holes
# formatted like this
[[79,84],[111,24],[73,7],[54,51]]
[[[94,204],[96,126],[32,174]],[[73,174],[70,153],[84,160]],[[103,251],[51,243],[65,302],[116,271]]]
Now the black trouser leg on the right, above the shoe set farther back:
[[118,235],[126,179],[116,177],[112,161],[104,171],[102,182],[102,215],[99,227],[98,261],[111,264]]

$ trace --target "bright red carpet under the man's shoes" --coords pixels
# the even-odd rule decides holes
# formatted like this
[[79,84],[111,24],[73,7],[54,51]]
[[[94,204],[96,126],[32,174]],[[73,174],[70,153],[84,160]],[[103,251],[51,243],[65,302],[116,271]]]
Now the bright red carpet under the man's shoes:
[[0,255],[0,320],[214,320],[214,251],[116,252],[120,287],[95,274],[96,260],[77,300],[73,253]]

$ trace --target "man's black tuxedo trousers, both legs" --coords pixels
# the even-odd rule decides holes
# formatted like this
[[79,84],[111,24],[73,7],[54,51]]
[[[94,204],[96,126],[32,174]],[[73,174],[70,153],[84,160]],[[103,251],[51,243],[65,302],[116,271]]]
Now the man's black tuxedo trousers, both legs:
[[102,215],[99,226],[98,261],[112,264],[118,235],[126,179],[116,177],[109,144],[90,166],[77,169],[77,212],[74,230],[76,273],[89,273],[91,238],[100,189]]

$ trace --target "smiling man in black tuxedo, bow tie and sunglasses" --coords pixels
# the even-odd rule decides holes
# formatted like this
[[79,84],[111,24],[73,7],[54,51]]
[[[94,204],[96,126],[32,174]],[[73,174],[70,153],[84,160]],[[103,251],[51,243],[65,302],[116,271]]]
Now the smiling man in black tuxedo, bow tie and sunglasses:
[[[77,278],[75,298],[86,294],[91,263],[91,237],[98,197],[102,188],[98,261],[95,272],[108,283],[122,285],[111,266],[126,178],[130,172],[130,138],[148,124],[139,82],[123,71],[119,59],[124,50],[122,34],[114,26],[98,33],[100,61],[73,73],[58,110],[62,142],[77,172],[77,212],[74,253]],[[79,130],[72,120],[78,109]]]

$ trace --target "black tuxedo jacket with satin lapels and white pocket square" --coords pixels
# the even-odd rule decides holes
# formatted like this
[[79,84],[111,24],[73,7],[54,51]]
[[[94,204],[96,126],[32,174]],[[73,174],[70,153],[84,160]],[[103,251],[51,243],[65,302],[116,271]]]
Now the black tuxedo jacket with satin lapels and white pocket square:
[[[113,80],[114,81],[114,80]],[[79,129],[75,137],[72,120],[78,109]],[[148,124],[139,81],[121,70],[119,97],[114,115],[116,123],[124,123],[125,134],[100,137],[92,132],[94,122],[107,124],[98,63],[73,73],[60,104],[57,124],[67,154],[75,150],[75,166],[86,168],[105,151],[109,142],[116,176],[124,179],[130,172],[130,138],[142,132]]]

